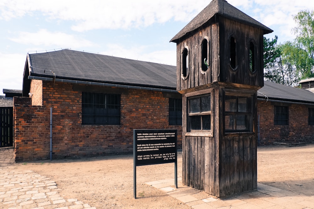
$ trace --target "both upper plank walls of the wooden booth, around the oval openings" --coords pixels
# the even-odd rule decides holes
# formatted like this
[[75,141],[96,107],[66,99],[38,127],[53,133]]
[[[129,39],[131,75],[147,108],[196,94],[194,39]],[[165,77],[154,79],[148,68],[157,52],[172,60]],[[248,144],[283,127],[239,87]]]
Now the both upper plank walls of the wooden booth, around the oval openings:
[[[215,81],[238,83],[252,86],[263,86],[263,30],[250,25],[239,23],[224,17],[219,17],[218,22],[209,21],[193,35],[187,36],[177,43],[177,90],[185,90],[202,86]],[[230,69],[229,39],[236,38],[237,65],[234,71]],[[203,75],[200,72],[202,40],[209,38],[209,67]],[[249,43],[256,43],[257,61],[256,71],[249,69]],[[189,49],[189,75],[185,80],[181,78],[182,51]]]

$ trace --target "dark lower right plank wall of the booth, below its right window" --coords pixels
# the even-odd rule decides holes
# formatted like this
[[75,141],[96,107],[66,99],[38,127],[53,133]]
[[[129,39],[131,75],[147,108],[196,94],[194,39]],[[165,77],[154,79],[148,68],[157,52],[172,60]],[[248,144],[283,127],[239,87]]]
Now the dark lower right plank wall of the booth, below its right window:
[[225,137],[220,142],[220,196],[257,189],[255,136]]

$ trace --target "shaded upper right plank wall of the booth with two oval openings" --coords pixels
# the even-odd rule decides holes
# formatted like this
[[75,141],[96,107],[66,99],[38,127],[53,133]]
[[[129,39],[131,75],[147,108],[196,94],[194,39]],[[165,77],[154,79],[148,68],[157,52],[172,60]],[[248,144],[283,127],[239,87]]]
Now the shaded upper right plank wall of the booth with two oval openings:
[[[263,86],[263,30],[235,20],[220,17],[220,78],[219,81]],[[236,38],[236,54],[238,68],[234,71],[229,67],[230,36]],[[249,43],[253,40],[257,45],[256,71],[249,69]]]

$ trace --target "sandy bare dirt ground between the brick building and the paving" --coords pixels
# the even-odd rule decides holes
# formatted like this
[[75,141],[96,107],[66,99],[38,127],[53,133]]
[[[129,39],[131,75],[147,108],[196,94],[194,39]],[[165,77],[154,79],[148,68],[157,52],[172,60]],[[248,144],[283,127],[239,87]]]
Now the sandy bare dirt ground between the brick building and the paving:
[[[302,147],[261,146],[257,149],[257,181],[313,196],[314,144]],[[101,208],[191,208],[144,182],[174,178],[174,164],[137,167],[137,199],[133,198],[133,155],[18,163],[57,183],[64,198]],[[182,154],[178,153],[178,178]]]

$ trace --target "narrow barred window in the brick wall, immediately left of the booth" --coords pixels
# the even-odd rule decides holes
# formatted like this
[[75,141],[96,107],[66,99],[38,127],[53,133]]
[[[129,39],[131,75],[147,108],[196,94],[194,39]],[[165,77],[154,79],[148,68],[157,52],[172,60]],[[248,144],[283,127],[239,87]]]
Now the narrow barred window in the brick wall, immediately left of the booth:
[[169,125],[182,125],[182,99],[169,98]]

